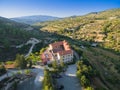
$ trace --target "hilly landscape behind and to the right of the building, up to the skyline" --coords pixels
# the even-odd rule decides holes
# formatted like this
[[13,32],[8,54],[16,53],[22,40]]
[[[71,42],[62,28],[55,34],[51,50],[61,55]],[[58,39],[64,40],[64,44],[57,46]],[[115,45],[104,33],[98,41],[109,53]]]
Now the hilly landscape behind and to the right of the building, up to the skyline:
[[33,47],[33,53],[49,43],[67,40],[80,56],[82,53],[85,64],[89,62],[95,69],[91,72],[95,76],[90,78],[95,90],[119,90],[119,8],[62,19],[41,15],[12,19],[0,17],[0,61],[15,60],[18,53],[26,55],[32,46],[25,43],[31,38],[40,41]]

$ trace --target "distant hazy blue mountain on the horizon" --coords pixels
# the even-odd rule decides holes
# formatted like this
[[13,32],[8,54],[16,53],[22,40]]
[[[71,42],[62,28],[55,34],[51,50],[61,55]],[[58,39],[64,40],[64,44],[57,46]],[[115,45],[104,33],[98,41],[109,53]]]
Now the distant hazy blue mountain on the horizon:
[[33,15],[33,16],[11,18],[11,20],[26,24],[34,24],[38,22],[53,21],[58,19],[59,19],[58,17],[46,16],[46,15]]

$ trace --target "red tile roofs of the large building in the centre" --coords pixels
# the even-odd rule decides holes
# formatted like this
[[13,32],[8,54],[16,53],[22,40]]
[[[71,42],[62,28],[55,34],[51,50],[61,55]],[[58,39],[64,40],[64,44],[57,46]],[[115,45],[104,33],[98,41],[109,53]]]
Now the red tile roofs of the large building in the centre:
[[[52,46],[52,50],[53,54],[58,53],[60,56],[62,55],[66,55],[66,54],[72,54],[73,51],[71,50],[69,44],[67,41],[60,41],[60,42],[55,42],[50,44]],[[41,59],[43,60],[43,62],[47,62],[49,60],[52,59],[52,57],[54,57],[52,55],[52,52],[49,52],[48,50],[46,50],[42,55],[41,55]],[[55,58],[55,57],[54,57]]]

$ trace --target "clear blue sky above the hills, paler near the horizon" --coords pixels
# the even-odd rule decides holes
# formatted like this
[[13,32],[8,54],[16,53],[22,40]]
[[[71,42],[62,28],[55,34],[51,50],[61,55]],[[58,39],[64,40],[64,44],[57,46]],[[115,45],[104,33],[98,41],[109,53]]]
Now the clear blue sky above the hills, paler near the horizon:
[[68,17],[120,8],[120,0],[0,0],[0,16],[6,18],[49,15]]

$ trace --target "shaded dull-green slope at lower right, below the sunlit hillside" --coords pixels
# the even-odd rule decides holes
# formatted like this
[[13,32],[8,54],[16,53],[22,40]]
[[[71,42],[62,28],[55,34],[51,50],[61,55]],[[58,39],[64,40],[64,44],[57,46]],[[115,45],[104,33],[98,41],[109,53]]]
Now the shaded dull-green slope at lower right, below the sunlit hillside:
[[[99,71],[97,74],[97,77],[100,78],[99,84],[102,82],[107,88],[119,90],[120,87],[118,84],[120,83],[120,73],[119,69],[116,68],[120,64],[119,55],[102,48],[89,47],[84,49],[83,56],[94,68],[96,68],[97,72]],[[94,79],[94,82],[97,81],[98,79]],[[104,85],[100,84],[99,87],[105,88]]]

